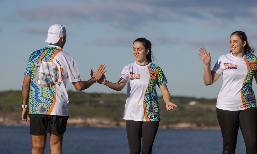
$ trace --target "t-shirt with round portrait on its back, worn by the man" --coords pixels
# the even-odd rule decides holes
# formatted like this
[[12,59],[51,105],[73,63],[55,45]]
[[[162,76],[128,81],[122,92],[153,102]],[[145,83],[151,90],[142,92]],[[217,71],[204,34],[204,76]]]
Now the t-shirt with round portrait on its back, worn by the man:
[[29,114],[68,116],[68,78],[81,81],[74,57],[49,45],[30,55],[24,75],[31,76]]

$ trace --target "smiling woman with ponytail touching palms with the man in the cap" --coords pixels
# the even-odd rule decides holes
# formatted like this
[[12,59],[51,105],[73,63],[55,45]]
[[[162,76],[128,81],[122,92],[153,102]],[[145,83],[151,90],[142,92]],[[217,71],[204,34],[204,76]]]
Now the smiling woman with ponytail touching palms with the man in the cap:
[[[112,83],[103,76],[98,83],[121,91],[128,83],[127,100],[123,119],[126,120],[126,130],[130,154],[152,153],[153,142],[158,130],[160,108],[156,93],[159,86],[167,111],[177,105],[170,102],[168,83],[162,69],[152,63],[152,44],[146,38],[138,38],[133,42],[135,62],[126,65],[118,83]],[[160,152],[161,153],[161,152]]]

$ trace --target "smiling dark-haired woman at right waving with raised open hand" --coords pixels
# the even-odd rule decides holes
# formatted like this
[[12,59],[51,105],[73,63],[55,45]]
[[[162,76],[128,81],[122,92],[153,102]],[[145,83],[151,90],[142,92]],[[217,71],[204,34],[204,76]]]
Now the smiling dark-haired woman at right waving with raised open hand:
[[200,48],[199,57],[204,62],[204,84],[211,85],[223,75],[223,84],[217,99],[217,118],[223,137],[223,152],[234,154],[238,128],[240,128],[246,154],[257,153],[257,110],[252,89],[253,77],[257,82],[257,58],[242,31],[230,35],[230,53],[219,57],[212,71],[211,57]]

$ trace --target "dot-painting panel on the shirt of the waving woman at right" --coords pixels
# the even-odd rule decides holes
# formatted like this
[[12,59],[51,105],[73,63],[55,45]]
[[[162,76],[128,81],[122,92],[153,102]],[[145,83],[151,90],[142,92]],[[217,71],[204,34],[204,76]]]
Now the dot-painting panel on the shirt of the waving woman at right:
[[248,74],[245,77],[241,90],[242,101],[245,103],[247,107],[256,107],[255,95],[252,89],[252,81],[254,74],[257,73],[257,60],[256,56],[248,54],[245,55],[244,59],[246,61],[246,65],[248,68]]

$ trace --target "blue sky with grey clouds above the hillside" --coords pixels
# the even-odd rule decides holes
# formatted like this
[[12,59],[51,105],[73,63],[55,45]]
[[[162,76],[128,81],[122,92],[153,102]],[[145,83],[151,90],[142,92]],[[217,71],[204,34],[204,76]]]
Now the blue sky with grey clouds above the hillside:
[[[29,55],[47,46],[50,25],[67,31],[63,48],[75,57],[82,80],[90,68],[106,65],[107,80],[117,82],[121,70],[135,61],[132,43],[145,37],[152,42],[155,64],[168,80],[172,96],[217,98],[222,77],[213,85],[203,83],[204,64],[199,47],[212,56],[229,53],[230,34],[244,31],[257,48],[257,1],[108,0],[108,1],[7,1],[0,0],[0,91],[21,90]],[[75,90],[71,83],[68,90]],[[253,89],[257,92],[256,83]],[[94,84],[84,92],[116,92]],[[158,90],[158,95],[161,95]]]

